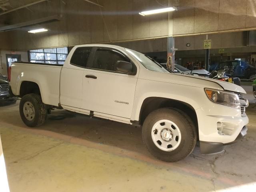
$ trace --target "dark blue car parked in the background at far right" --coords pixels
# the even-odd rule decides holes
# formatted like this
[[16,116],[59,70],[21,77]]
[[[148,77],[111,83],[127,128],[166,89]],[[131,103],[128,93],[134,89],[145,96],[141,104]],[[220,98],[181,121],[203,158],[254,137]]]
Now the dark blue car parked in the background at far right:
[[256,68],[239,60],[220,62],[216,64],[214,70],[224,68],[225,66],[234,67],[234,77],[239,77],[240,79],[251,79],[251,81],[256,78]]

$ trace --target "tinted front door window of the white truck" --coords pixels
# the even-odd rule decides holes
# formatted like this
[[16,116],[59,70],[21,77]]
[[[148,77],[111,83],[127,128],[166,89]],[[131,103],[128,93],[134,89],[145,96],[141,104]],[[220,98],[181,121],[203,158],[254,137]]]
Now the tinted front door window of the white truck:
[[96,50],[92,66],[89,68],[114,72],[117,61],[130,62],[128,58],[116,50],[99,48]]

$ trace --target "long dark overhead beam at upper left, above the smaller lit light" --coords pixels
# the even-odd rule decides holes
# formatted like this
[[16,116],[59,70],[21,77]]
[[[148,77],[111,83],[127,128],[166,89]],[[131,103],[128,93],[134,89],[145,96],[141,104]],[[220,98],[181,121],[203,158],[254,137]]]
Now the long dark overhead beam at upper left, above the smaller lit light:
[[26,22],[22,22],[22,23],[18,23],[18,24],[0,27],[0,32],[15,30],[15,29],[23,28],[23,27],[29,27],[29,26],[34,26],[34,25],[39,25],[39,24],[44,24],[44,23],[60,21],[60,19],[61,19],[61,15],[54,15],[54,16],[44,17],[44,18],[40,18],[40,19],[30,20],[30,21],[26,21]]

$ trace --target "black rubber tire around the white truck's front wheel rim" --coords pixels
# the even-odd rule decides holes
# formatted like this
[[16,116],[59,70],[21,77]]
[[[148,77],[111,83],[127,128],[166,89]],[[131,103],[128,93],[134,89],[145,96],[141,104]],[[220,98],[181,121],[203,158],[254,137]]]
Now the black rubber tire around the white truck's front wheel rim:
[[[181,141],[178,147],[172,151],[159,149],[153,142],[152,127],[159,120],[170,120],[180,129]],[[175,108],[161,108],[151,112],[142,126],[142,139],[148,151],[156,158],[166,162],[176,162],[186,158],[196,146],[196,127],[188,115]]]

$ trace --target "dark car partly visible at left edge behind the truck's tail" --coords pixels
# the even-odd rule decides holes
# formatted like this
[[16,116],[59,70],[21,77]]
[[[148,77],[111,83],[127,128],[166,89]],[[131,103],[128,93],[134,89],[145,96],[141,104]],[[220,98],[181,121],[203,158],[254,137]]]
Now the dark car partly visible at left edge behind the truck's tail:
[[16,103],[16,98],[10,97],[8,81],[0,78],[0,106],[14,103]]

